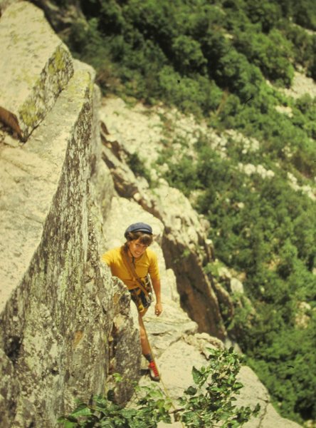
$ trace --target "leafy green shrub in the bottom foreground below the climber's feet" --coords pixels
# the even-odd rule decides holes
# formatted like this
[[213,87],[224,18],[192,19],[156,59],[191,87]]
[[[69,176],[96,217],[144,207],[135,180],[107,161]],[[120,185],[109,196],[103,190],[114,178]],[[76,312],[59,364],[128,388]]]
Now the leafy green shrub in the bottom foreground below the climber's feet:
[[[65,428],[108,427],[142,428],[157,427],[159,421],[171,423],[170,414],[184,422],[186,427],[238,428],[256,416],[259,404],[254,409],[236,407],[236,394],[243,387],[236,377],[241,359],[230,350],[209,349],[209,365],[192,368],[194,385],[184,391],[174,406],[171,399],[158,387],[135,387],[135,407],[123,407],[113,401],[113,390],[107,397],[94,397],[92,403],[78,403],[68,416],[58,419]],[[117,379],[122,381],[120,375]]]

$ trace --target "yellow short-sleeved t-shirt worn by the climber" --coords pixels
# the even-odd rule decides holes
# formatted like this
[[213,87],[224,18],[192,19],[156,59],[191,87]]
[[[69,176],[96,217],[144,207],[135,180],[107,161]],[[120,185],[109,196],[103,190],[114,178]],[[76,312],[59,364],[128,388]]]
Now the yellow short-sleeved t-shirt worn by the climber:
[[[113,248],[107,251],[101,257],[102,262],[106,263],[112,272],[113,276],[119,277],[129,290],[136,288],[137,280],[132,277],[132,273],[127,269],[122,259],[123,247]],[[137,275],[144,279],[149,273],[152,280],[159,280],[159,268],[157,255],[147,248],[144,253],[137,259],[134,259],[134,265]]]

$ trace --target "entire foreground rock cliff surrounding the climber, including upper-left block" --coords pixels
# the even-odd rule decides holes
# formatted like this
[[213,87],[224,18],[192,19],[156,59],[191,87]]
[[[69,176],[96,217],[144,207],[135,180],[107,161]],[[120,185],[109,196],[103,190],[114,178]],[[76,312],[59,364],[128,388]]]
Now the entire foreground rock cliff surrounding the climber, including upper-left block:
[[[249,367],[241,367],[238,355],[224,350],[218,338],[198,333],[196,322],[179,305],[176,283],[183,281],[176,280],[177,269],[166,268],[164,257],[172,251],[181,262],[185,249],[191,260],[186,260],[186,268],[199,275],[201,294],[209,297],[200,299],[204,320],[207,303],[209,325],[216,335],[227,337],[216,295],[225,295],[224,290],[211,290],[201,269],[201,260],[211,258],[207,222],[201,222],[176,188],[164,182],[153,192],[146,180],[132,173],[124,161],[128,151],[99,121],[95,71],[72,58],[43,11],[27,1],[0,6],[1,57],[6,59],[0,66],[0,80],[6,81],[0,89],[1,428],[55,428],[78,399],[95,403],[97,394],[98,403],[109,406],[102,421],[107,426],[122,427],[119,414],[131,428],[142,426],[139,422],[154,427],[159,420],[172,421],[170,398],[153,389],[147,370],[142,370],[135,305],[122,282],[100,263],[102,251],[121,243],[127,224],[137,220],[154,228],[164,312],[159,320],[149,312],[146,323],[174,403],[179,396],[183,403],[186,394],[191,407],[192,392],[198,391],[189,387],[186,393],[194,380],[192,366],[196,383],[196,374],[202,373],[201,365],[210,364],[211,355],[210,392],[215,397],[202,399],[206,410],[214,408],[204,412],[208,426],[237,419],[241,426],[251,417],[252,428],[270,428],[271,423],[298,427],[275,412],[267,390]],[[199,246],[203,250],[198,251]],[[170,355],[178,355],[177,367]],[[138,382],[145,385],[142,409],[131,408],[131,402],[126,407],[132,384]],[[233,407],[232,394],[243,384]],[[218,394],[218,386],[223,394]],[[164,399],[152,399],[157,394]],[[105,398],[110,396],[111,402]],[[89,416],[88,409],[80,407],[78,416]],[[182,420],[190,419],[192,412],[186,412]],[[91,423],[70,417],[65,426]]]

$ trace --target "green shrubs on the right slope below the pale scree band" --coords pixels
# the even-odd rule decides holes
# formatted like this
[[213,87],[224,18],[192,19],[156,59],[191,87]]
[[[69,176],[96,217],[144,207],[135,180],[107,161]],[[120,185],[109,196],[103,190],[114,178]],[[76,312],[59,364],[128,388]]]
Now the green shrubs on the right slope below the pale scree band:
[[[308,96],[297,100],[297,107],[304,111],[310,111],[312,105]],[[220,264],[246,272],[244,287],[253,307],[245,299],[238,301],[236,315],[227,326],[231,336],[250,358],[249,364],[267,385],[280,412],[298,422],[301,417],[312,419],[316,407],[307,404],[307,397],[315,391],[315,371],[300,383],[297,361],[315,365],[311,334],[315,325],[312,315],[307,315],[305,329],[297,330],[295,322],[300,313],[297,302],[309,302],[315,308],[315,203],[290,188],[286,172],[270,162],[278,156],[275,148],[263,156],[260,148],[245,151],[243,144],[231,140],[223,158],[211,141],[200,138],[195,160],[184,152],[177,156],[177,163],[168,150],[162,156],[162,162],[169,164],[165,177],[188,197],[199,190],[196,209],[212,225],[210,238]],[[266,169],[273,166],[274,176],[246,176],[238,168],[240,162],[256,165],[258,161],[265,161]],[[286,168],[285,160],[283,165]],[[216,268],[208,267],[218,279]],[[298,344],[299,337],[305,338],[304,346]],[[290,374],[288,366],[293,366]]]

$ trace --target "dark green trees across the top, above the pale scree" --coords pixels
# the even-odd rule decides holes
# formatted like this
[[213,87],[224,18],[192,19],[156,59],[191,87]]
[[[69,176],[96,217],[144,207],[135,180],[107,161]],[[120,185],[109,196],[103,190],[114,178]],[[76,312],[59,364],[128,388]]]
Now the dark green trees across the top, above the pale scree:
[[87,23],[74,23],[66,41],[95,66],[104,92],[110,86],[208,116],[226,89],[242,104],[264,86],[263,76],[288,86],[294,61],[315,76],[313,37],[288,24],[315,20],[307,2],[87,0]]

